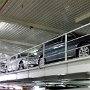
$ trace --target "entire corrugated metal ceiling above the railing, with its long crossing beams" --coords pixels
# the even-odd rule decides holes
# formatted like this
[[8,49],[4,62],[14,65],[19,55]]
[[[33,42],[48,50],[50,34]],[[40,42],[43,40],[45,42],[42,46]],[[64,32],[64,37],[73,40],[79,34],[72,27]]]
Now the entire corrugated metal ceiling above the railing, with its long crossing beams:
[[75,18],[90,12],[90,0],[2,1],[7,2],[0,9],[0,52],[8,55],[81,26]]

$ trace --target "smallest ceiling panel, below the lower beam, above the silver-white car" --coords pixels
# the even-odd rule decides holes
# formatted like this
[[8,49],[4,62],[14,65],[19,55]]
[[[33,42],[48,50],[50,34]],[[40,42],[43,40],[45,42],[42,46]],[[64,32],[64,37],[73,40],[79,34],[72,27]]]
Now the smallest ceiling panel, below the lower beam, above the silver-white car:
[[13,55],[13,54],[20,53],[28,48],[30,47],[0,41],[0,53],[3,53],[3,54]]

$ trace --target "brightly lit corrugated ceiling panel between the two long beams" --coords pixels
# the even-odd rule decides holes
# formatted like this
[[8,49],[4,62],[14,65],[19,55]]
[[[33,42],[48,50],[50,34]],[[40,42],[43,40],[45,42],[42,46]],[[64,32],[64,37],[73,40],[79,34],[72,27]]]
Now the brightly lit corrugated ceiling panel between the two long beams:
[[[0,25],[1,39],[14,40],[24,43],[40,44],[43,41],[58,35],[56,33],[48,33],[47,31],[42,31],[34,28],[30,29],[29,27],[24,27],[18,24],[1,22]],[[43,37],[46,35],[46,38]],[[37,38],[39,38],[39,40],[37,40]]]

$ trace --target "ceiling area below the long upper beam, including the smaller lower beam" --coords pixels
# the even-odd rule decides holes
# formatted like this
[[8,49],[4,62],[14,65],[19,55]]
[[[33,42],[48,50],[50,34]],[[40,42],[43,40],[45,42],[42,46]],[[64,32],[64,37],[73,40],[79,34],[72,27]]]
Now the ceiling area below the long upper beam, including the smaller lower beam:
[[[0,23],[0,52],[13,55],[59,34],[25,27],[17,23]],[[38,39],[37,39],[38,38]]]

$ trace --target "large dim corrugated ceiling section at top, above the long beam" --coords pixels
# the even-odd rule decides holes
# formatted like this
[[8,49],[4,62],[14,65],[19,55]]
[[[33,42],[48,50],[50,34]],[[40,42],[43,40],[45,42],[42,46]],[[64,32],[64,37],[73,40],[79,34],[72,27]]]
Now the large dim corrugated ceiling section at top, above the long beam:
[[13,7],[6,8],[3,14],[62,30],[75,27],[74,18],[90,11],[90,0],[12,0],[12,2]]

